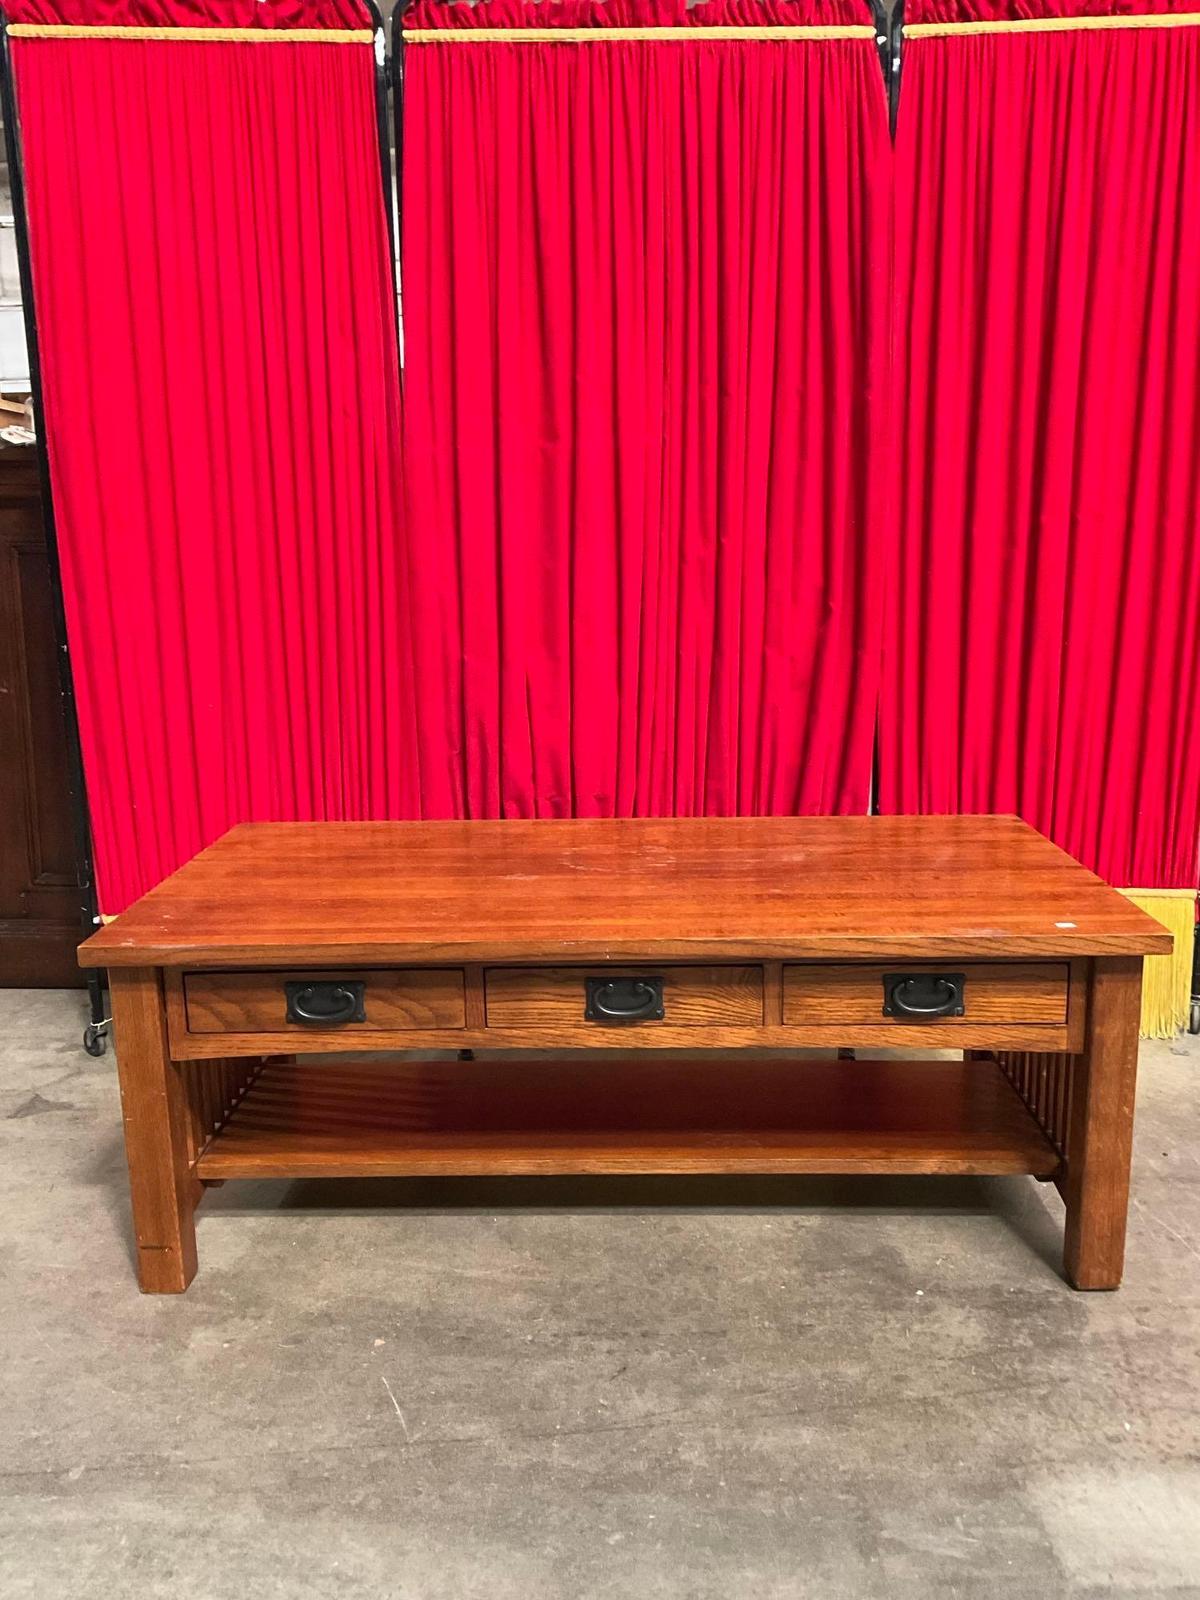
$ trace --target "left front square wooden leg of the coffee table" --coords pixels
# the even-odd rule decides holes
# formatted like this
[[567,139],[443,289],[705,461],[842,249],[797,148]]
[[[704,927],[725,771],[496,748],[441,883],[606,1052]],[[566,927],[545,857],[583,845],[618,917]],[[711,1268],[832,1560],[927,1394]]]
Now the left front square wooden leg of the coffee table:
[[146,1294],[182,1294],[195,1277],[202,1186],[187,1154],[187,1085],[166,1046],[162,973],[117,966],[110,987],[138,1283]]

